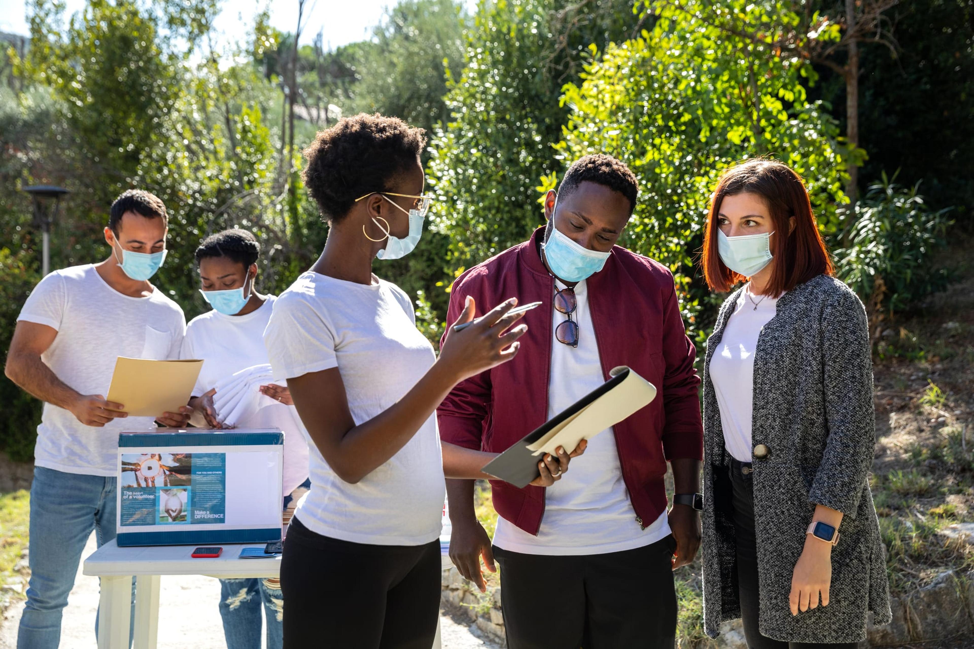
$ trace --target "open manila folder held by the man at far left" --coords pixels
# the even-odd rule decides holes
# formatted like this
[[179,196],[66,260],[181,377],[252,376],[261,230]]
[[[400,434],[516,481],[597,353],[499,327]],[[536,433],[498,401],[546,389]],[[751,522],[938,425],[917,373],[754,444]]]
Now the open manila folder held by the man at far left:
[[130,416],[178,413],[193,396],[202,360],[156,361],[119,356],[108,388],[108,401],[122,404]]

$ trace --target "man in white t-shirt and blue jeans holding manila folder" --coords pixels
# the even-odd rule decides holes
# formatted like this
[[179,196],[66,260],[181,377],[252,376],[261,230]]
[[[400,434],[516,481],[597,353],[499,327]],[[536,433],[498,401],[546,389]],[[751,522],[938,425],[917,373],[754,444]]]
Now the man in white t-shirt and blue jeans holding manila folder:
[[[41,279],[18,317],[6,375],[44,401],[30,488],[30,584],[19,649],[56,649],[61,612],[92,530],[115,538],[121,432],[185,426],[192,412],[128,416],[105,399],[119,356],[179,357],[182,309],[149,278],[166,258],[167,214],[140,190],[112,203],[108,258]],[[97,622],[95,622],[97,625]]]

